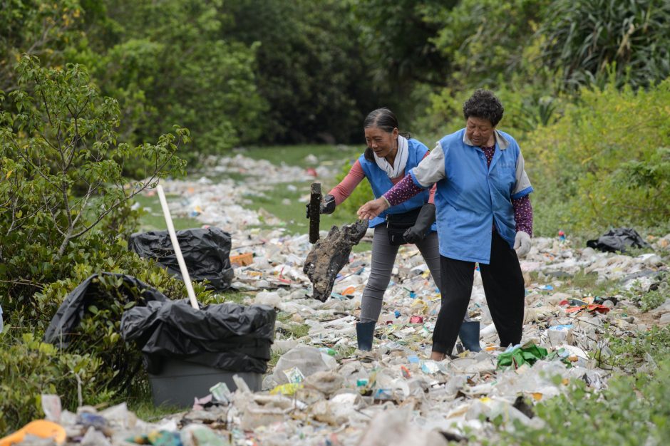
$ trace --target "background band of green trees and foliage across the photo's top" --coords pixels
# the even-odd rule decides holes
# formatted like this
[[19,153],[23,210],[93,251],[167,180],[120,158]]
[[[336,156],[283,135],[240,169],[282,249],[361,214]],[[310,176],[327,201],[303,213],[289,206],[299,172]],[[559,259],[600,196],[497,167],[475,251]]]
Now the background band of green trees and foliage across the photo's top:
[[[473,88],[503,98],[520,138],[579,88],[647,88],[669,76],[670,6],[635,1],[9,1],[0,89],[23,51],[79,62],[117,98],[120,135],[189,128],[191,160],[236,145],[361,142],[391,106],[438,136],[460,127]],[[558,92],[576,92],[559,97]],[[127,167],[134,172],[132,166]]]

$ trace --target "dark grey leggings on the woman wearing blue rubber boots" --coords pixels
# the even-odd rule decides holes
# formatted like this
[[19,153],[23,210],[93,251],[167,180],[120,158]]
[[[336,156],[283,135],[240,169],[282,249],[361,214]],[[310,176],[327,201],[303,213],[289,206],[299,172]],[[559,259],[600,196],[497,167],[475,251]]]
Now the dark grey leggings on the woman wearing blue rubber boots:
[[[431,270],[433,281],[441,286],[440,280],[442,271],[440,270],[440,249],[438,246],[438,233],[431,232],[425,239],[416,244],[421,251],[423,259]],[[370,279],[363,291],[363,301],[361,301],[361,322],[376,322],[381,313],[381,301],[391,281],[391,271],[393,264],[396,263],[396,254],[398,247],[392,246],[388,242],[386,227],[379,224],[374,228],[374,237],[372,239],[372,262]]]

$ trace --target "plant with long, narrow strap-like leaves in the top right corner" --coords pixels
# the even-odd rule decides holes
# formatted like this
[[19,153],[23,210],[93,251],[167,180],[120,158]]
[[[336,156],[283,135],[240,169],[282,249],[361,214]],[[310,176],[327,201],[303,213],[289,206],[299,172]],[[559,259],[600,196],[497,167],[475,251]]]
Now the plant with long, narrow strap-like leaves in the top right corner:
[[647,87],[670,76],[670,4],[666,0],[559,0],[540,33],[542,60],[567,88]]

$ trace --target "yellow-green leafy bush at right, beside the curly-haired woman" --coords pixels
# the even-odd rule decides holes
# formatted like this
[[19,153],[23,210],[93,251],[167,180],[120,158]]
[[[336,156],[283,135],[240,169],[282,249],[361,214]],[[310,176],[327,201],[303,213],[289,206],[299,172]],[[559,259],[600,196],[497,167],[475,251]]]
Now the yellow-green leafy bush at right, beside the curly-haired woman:
[[637,92],[612,82],[582,90],[555,124],[528,135],[523,150],[534,199],[551,210],[536,213],[540,234],[667,224],[668,103],[670,78]]

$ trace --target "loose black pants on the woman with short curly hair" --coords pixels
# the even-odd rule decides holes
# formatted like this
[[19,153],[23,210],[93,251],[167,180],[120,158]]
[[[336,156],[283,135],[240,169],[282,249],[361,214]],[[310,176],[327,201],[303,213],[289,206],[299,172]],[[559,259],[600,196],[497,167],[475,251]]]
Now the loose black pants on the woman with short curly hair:
[[[451,354],[460,323],[468,311],[475,264],[440,256],[442,306],[433,331],[433,351]],[[480,264],[486,303],[500,346],[521,342],[525,289],[517,253],[497,232],[491,238],[490,264]]]

